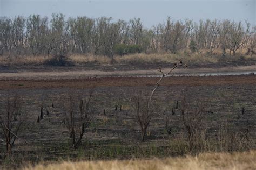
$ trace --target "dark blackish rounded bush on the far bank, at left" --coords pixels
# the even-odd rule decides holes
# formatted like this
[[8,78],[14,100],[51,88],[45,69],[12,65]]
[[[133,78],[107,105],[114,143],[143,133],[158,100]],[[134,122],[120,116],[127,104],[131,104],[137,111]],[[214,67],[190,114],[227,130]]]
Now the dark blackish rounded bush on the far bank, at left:
[[50,66],[70,66],[73,65],[72,61],[69,60],[66,55],[55,55],[51,59],[46,60],[45,65]]

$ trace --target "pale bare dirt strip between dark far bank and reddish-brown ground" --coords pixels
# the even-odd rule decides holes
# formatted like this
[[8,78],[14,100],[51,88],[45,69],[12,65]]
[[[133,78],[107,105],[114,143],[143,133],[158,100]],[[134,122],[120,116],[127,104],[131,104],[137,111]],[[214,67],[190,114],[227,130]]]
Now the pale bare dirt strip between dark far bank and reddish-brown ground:
[[[169,69],[163,69],[167,72]],[[256,65],[238,66],[238,67],[221,67],[221,68],[178,68],[173,73],[176,75],[217,75],[218,73],[254,73]],[[3,79],[78,79],[86,77],[110,77],[110,76],[156,76],[159,75],[157,69],[150,70],[127,70],[127,71],[100,71],[100,70],[72,70],[72,71],[55,71],[55,72],[18,72],[18,73],[0,73],[0,80]]]

